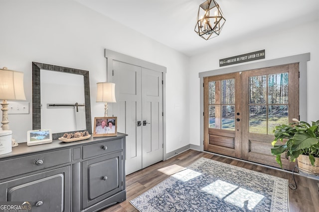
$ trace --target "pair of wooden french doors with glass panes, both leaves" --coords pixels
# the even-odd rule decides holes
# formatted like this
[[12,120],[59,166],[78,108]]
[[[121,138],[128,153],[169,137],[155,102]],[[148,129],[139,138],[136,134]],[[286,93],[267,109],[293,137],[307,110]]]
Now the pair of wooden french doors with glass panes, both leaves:
[[298,117],[299,64],[204,78],[206,151],[278,167],[273,129]]

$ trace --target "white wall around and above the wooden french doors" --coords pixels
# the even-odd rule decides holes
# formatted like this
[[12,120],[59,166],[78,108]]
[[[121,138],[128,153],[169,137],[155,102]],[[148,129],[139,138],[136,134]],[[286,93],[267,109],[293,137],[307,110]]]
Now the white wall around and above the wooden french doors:
[[[227,24],[227,22],[226,22]],[[267,31],[267,30],[266,30]],[[311,60],[308,62],[308,83],[300,86],[307,86],[308,92],[308,121],[319,120],[319,19],[310,21],[306,25],[294,26],[293,28],[283,27],[280,31],[269,29],[265,34],[254,34],[250,37],[239,37],[236,40],[228,41],[214,46],[211,51],[201,55],[193,56],[190,60],[189,89],[190,119],[194,123],[195,130],[189,134],[190,143],[200,144],[200,104],[199,104],[199,77],[198,73],[203,71],[218,70],[219,60],[231,56],[241,55],[249,52],[265,49],[265,59],[271,60],[303,53],[311,53]],[[222,36],[222,34],[220,35]],[[255,61],[259,62],[261,60]],[[254,62],[249,62],[254,63]],[[247,63],[246,63],[247,64]],[[239,64],[242,65],[242,64]],[[232,65],[236,66],[236,65]],[[228,66],[231,67],[231,66]],[[224,68],[224,67],[223,67]],[[244,71],[244,70],[243,70]],[[307,120],[304,120],[307,121]]]

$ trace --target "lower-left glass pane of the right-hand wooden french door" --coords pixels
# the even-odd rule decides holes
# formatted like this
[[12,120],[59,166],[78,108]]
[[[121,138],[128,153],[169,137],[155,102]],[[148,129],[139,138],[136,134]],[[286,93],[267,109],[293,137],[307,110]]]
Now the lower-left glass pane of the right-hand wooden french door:
[[267,134],[266,106],[249,106],[249,132]]

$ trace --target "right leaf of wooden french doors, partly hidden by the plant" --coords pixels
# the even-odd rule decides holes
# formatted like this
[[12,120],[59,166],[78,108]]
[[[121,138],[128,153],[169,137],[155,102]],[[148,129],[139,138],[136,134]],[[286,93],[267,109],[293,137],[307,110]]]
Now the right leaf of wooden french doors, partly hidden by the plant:
[[[243,71],[242,81],[242,158],[279,167],[270,151],[273,130],[299,119],[299,64]],[[282,161],[285,169],[295,166]]]

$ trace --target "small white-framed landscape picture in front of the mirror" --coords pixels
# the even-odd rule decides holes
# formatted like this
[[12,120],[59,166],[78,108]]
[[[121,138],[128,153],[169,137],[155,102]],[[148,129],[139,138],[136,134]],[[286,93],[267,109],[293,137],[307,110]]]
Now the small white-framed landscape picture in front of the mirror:
[[51,129],[47,130],[29,130],[26,133],[27,141],[26,145],[33,146],[43,143],[52,142],[52,132]]

